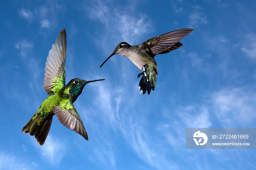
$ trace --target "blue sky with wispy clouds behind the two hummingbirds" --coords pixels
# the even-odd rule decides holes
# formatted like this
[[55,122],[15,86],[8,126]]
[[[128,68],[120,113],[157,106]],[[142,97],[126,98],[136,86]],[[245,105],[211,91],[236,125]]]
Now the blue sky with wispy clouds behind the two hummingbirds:
[[[255,128],[253,0],[0,2],[0,169],[255,169],[255,150],[185,149],[185,128]],[[57,117],[43,146],[23,126],[48,97],[46,58],[67,32],[66,83],[87,84],[74,106],[89,136]],[[193,28],[184,45],[155,57],[155,91],[139,94],[140,70],[114,55]]]

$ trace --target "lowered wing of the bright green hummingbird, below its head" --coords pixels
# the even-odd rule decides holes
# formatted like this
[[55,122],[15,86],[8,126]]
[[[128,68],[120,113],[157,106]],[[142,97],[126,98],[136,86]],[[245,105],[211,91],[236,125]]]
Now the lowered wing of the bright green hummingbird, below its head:
[[72,101],[67,99],[67,101],[63,103],[64,104],[60,104],[59,106],[54,106],[52,108],[53,113],[58,117],[61,124],[88,140],[88,135],[83,122]]

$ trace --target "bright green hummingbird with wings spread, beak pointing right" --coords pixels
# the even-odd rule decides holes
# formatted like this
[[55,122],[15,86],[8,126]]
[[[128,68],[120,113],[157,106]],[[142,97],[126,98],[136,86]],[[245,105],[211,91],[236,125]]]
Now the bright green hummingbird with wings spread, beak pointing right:
[[22,129],[22,133],[29,132],[31,136],[35,135],[39,145],[45,143],[53,115],[56,115],[60,123],[65,127],[88,140],[83,122],[73,103],[82,93],[86,84],[105,79],[85,81],[74,78],[65,85],[66,54],[67,38],[66,31],[63,29],[52,45],[45,63],[44,90],[49,96],[42,102],[38,111]]

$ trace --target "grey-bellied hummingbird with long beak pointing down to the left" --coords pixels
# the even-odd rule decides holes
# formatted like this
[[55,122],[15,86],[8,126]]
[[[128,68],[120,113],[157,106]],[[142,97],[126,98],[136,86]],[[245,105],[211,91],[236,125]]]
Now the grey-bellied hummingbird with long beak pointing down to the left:
[[110,57],[115,54],[121,54],[124,57],[129,58],[133,64],[135,64],[141,72],[138,74],[138,78],[142,76],[139,82],[140,94],[147,92],[148,95],[151,89],[154,91],[155,82],[157,81],[158,68],[155,62],[155,55],[169,53],[172,50],[178,49],[183,44],[180,40],[193,31],[191,28],[185,28],[167,32],[165,34],[155,36],[146,40],[140,45],[131,46],[127,42],[120,42],[114,52],[102,63],[99,67],[108,61]]

